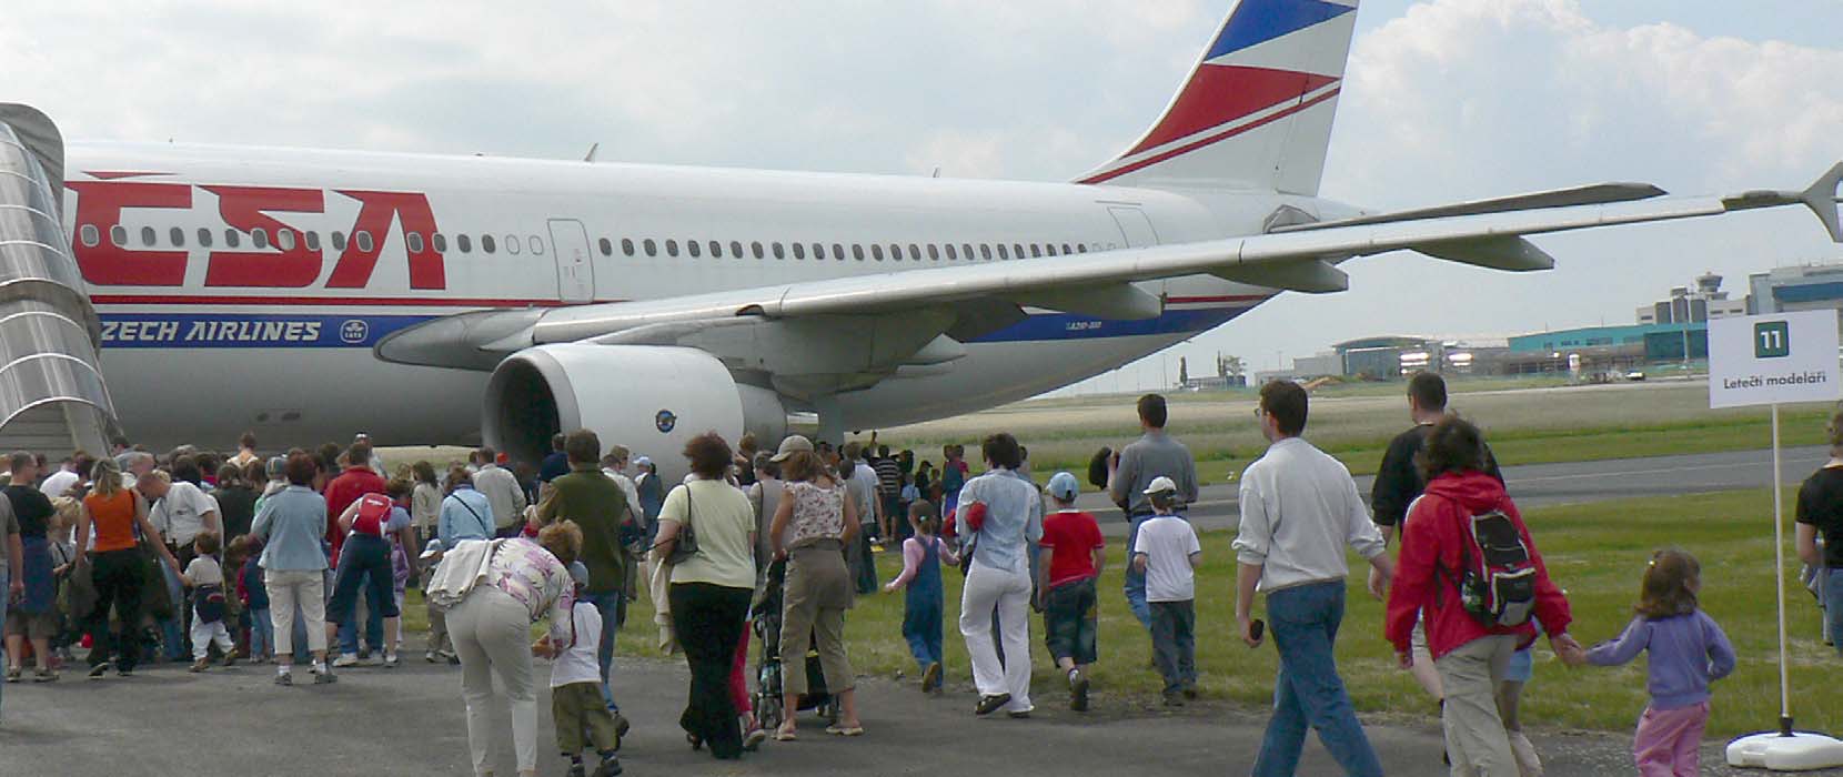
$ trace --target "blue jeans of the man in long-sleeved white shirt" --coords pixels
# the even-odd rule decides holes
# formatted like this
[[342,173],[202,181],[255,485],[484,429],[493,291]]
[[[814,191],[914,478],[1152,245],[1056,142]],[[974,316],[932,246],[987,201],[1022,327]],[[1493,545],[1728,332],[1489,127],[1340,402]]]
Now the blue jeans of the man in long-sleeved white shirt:
[[1369,736],[1356,722],[1351,696],[1338,678],[1332,648],[1344,622],[1344,580],[1296,586],[1268,593],[1268,632],[1279,648],[1279,679],[1274,683],[1274,718],[1268,720],[1255,757],[1257,777],[1292,775],[1299,770],[1307,727],[1347,775],[1382,775]]

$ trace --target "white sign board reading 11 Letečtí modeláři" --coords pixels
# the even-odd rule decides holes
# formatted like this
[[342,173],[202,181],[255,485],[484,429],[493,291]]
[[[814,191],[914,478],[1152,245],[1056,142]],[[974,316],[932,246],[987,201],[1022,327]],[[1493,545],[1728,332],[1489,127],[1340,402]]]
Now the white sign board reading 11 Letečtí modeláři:
[[1836,309],[1708,322],[1708,407],[1836,401],[1837,372]]

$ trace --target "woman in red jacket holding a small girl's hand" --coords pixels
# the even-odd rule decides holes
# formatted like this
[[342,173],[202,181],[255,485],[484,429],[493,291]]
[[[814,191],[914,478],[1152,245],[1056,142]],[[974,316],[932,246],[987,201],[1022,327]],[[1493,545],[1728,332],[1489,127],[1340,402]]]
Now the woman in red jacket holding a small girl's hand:
[[1515,527],[1528,549],[1528,565],[1535,569],[1533,615],[1548,632],[1550,646],[1563,655],[1581,650],[1568,637],[1568,600],[1548,580],[1543,556],[1504,484],[1484,473],[1478,427],[1447,416],[1426,435],[1419,464],[1426,492],[1403,523],[1384,637],[1395,644],[1401,665],[1412,667],[1410,635],[1415,619],[1425,620],[1426,646],[1447,692],[1439,718],[1452,773],[1513,775],[1517,760],[1493,690],[1504,681],[1511,654],[1535,641],[1535,624],[1522,619],[1517,626],[1487,626],[1460,602],[1458,580],[1482,556],[1471,539],[1473,516],[1500,512]]

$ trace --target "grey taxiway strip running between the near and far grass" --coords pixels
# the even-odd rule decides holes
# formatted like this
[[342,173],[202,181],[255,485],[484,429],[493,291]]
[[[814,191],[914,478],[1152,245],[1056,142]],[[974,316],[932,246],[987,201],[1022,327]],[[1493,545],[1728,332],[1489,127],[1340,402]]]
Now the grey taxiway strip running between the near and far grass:
[[[1786,449],[1780,464],[1784,482],[1804,481],[1828,458],[1828,449],[1821,446]],[[1524,464],[1504,470],[1509,495],[1524,508],[1764,488],[1771,479],[1771,451]],[[1358,477],[1356,488],[1368,497],[1373,481],[1368,475]],[[1198,503],[1191,506],[1191,521],[1200,528],[1235,528],[1240,516],[1237,495],[1233,482],[1203,486]],[[1102,516],[1100,528],[1108,536],[1126,536],[1126,523],[1119,519],[1119,510],[1100,493],[1084,493],[1076,504]]]

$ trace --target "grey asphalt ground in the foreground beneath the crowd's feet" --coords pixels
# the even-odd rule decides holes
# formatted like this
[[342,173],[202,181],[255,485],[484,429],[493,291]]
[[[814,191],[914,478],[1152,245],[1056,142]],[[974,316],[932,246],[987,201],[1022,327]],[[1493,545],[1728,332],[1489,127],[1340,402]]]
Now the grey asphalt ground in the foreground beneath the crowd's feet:
[[[181,665],[135,678],[9,685],[0,722],[0,775],[466,775],[466,720],[459,672],[420,661],[398,670],[346,670],[332,687],[269,683],[271,667],[203,676]],[[547,674],[544,674],[547,676]],[[1095,713],[1052,709],[1038,698],[1030,720],[979,720],[966,678],[945,696],[912,685],[861,683],[868,735],[826,736],[802,720],[798,742],[769,742],[741,762],[711,760],[686,748],[675,725],[686,694],[684,665],[627,661],[619,698],[634,720],[623,746],[628,775],[1198,775],[1246,773],[1262,716],[1224,705],[1178,714],[1113,709],[1104,689]],[[562,775],[553,748],[549,698],[540,698],[540,775]],[[511,727],[499,775],[512,773]],[[1403,718],[1406,720],[1406,718]],[[1369,736],[1395,775],[1434,775],[1439,733],[1432,720],[1371,720]],[[1539,733],[1552,777],[1629,773],[1624,736]],[[1718,764],[1710,744],[1705,764]],[[1336,773],[1316,740],[1303,775]],[[1707,771],[1705,773],[1712,773]],[[1714,771],[1725,773],[1725,771]]]

